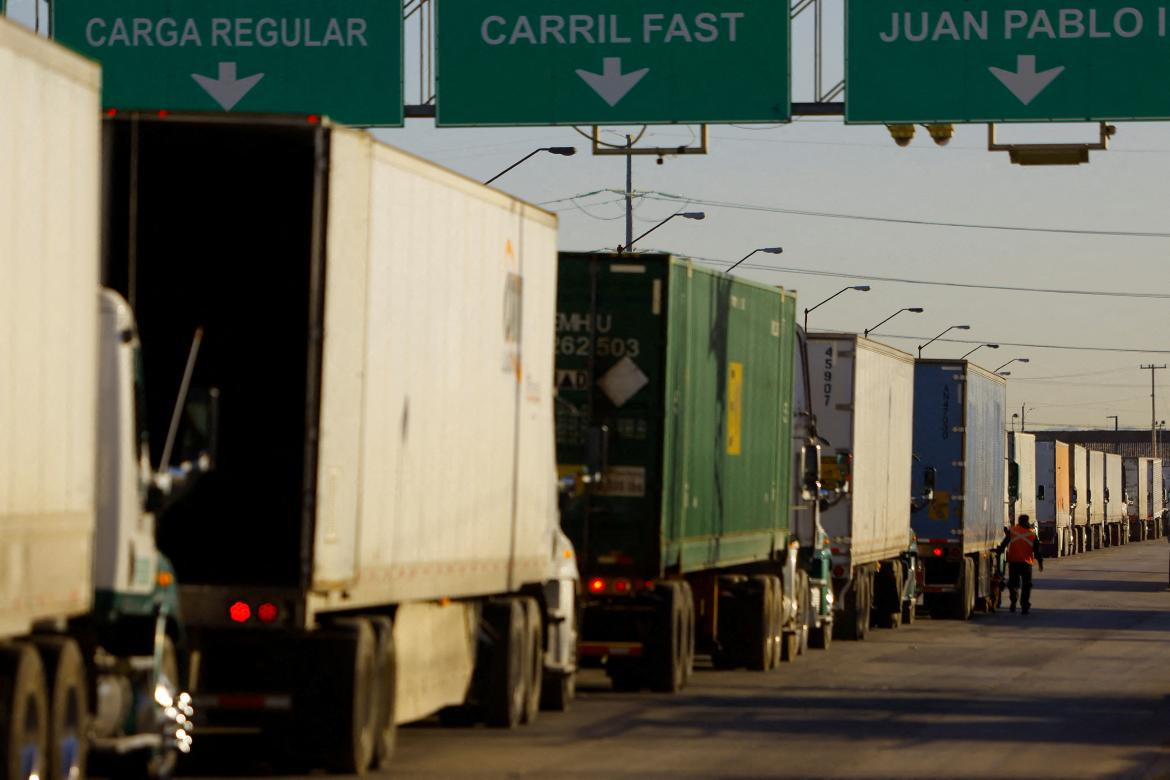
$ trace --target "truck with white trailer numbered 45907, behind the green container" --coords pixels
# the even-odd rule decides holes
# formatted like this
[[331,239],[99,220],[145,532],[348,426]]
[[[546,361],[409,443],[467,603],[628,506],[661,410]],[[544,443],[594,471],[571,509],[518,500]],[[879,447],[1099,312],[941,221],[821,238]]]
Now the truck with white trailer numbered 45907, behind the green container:
[[914,357],[854,333],[810,333],[817,430],[831,446],[821,478],[840,499],[821,524],[833,555],[834,627],[866,637],[870,622],[913,621],[917,545],[910,536]]

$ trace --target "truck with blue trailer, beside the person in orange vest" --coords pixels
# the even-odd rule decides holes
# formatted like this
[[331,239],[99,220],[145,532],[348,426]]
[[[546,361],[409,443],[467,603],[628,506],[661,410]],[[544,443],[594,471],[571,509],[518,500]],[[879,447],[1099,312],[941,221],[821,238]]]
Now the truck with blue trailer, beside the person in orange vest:
[[1005,380],[975,364],[915,364],[911,490],[931,498],[911,526],[931,616],[966,620],[977,606],[992,606],[994,548],[1004,538],[1005,406]]

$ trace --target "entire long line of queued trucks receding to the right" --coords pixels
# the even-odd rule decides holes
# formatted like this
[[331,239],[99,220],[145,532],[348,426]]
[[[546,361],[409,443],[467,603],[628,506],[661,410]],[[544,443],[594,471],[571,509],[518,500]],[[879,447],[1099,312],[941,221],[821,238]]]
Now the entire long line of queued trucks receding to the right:
[[970,363],[558,254],[362,131],[99,80],[0,19],[0,780],[195,740],[362,773],[400,724],[563,710],[578,665],[677,691],[969,617],[1019,512],[1058,553],[1161,531],[1161,469],[1135,522],[1129,464],[1005,435]]

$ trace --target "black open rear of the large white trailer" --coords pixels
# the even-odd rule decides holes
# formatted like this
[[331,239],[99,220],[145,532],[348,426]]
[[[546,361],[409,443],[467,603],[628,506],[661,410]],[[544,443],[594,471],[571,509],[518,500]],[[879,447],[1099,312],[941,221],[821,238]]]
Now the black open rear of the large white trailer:
[[158,518],[184,584],[303,584],[326,141],[308,123],[105,120],[103,281],[138,318],[156,464],[198,326],[192,388],[220,391],[216,468]]

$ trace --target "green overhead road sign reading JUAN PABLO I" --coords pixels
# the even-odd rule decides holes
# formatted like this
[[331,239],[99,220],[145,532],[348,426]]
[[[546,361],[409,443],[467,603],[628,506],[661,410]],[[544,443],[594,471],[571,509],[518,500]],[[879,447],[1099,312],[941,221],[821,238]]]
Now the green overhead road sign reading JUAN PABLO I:
[[1170,118],[1149,0],[846,0],[846,122]]

